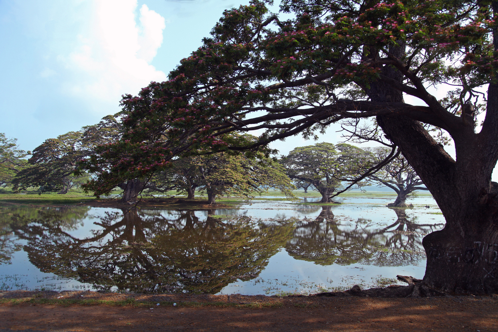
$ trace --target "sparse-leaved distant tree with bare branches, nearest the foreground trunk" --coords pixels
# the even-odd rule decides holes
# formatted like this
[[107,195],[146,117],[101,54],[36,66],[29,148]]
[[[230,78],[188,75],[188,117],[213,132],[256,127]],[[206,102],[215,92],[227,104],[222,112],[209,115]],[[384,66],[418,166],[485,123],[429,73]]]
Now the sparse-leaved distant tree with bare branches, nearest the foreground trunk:
[[[387,147],[370,148],[377,162],[384,160],[390,153],[391,149]],[[406,199],[415,190],[428,190],[420,187],[423,185],[422,180],[411,167],[403,155],[398,155],[395,159],[381,168],[381,170],[367,177],[373,184],[381,184],[391,188],[398,195],[394,203],[389,203],[388,207],[405,207]]]

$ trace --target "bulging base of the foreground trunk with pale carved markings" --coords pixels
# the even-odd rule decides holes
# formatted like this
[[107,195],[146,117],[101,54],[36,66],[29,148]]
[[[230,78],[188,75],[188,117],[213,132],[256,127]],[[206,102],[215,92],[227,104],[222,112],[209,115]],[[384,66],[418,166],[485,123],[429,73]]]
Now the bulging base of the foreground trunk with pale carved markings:
[[428,287],[452,294],[498,292],[498,220],[482,212],[467,209],[460,220],[466,223],[447,222],[444,229],[424,237]]

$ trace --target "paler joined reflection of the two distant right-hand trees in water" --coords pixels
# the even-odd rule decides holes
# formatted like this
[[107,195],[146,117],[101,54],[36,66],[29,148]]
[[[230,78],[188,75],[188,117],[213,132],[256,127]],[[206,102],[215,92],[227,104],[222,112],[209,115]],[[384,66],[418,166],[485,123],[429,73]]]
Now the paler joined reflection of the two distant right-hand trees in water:
[[285,249],[295,259],[319,265],[404,266],[425,259],[422,234],[442,228],[439,224],[417,224],[405,210],[391,208],[397,220],[384,228],[359,218],[354,223],[337,221],[332,206],[322,207],[315,220],[299,221]]

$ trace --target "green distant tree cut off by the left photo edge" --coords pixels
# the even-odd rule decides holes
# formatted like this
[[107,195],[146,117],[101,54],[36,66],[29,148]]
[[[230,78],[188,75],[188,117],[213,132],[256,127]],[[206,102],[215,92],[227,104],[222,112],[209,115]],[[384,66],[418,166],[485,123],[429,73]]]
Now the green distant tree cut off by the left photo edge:
[[20,150],[16,138],[0,133],[0,186],[12,184],[15,175],[24,168],[30,151]]

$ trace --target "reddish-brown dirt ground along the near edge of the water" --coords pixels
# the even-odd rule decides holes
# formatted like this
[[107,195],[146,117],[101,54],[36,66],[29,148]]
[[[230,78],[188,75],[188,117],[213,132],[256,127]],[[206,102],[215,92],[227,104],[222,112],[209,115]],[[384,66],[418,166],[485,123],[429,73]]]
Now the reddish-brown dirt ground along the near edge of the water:
[[[40,304],[41,299],[82,298],[111,305]],[[386,299],[14,291],[0,293],[0,299],[0,332],[498,331],[498,296]],[[135,304],[116,305],[129,299]],[[162,304],[152,304],[156,302]]]

